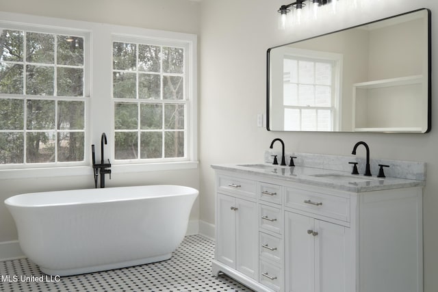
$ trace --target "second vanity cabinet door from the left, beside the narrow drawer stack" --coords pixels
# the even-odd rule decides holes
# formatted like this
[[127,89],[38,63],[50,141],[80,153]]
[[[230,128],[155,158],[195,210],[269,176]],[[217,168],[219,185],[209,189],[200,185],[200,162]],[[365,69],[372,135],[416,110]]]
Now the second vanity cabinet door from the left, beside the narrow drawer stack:
[[257,280],[259,230],[257,203],[236,199],[236,269]]

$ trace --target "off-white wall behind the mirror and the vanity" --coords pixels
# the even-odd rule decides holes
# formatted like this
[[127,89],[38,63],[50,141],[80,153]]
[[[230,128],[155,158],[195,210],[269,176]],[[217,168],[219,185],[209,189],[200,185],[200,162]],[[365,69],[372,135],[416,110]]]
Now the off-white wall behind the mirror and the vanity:
[[[352,0],[339,0],[348,1]],[[370,145],[372,158],[426,161],[424,189],[424,291],[438,289],[438,122],[427,134],[282,133],[257,128],[257,113],[266,110],[266,50],[279,44],[320,35],[378,18],[430,8],[438,31],[438,1],[358,0],[372,3],[349,14],[331,16],[315,25],[279,31],[276,10],[292,1],[203,0],[201,2],[200,183],[201,220],[214,224],[214,172],[211,163],[261,161],[272,139],[280,137],[288,151],[350,155],[359,140]],[[433,34],[433,51],[438,38]],[[407,56],[409,57],[409,56]],[[433,58],[433,72],[438,58]],[[433,98],[438,75],[433,75]],[[432,113],[438,111],[433,103]],[[365,153],[358,153],[364,155]]]

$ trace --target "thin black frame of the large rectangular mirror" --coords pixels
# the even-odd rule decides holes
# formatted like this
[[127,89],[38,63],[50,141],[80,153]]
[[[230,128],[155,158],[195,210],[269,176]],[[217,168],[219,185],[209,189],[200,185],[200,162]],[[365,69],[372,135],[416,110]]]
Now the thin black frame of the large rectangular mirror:
[[[311,40],[311,39],[314,39],[314,38],[319,38],[319,37],[322,37],[322,36],[328,36],[330,34],[335,34],[335,33],[340,32],[340,31],[346,31],[348,29],[354,29],[354,28],[357,28],[357,27],[361,27],[363,25],[370,25],[372,23],[377,23],[379,21],[385,21],[387,19],[395,18],[395,17],[398,17],[398,16],[403,16],[405,14],[410,14],[410,13],[414,13],[414,12],[420,12],[420,11],[426,11],[427,12],[427,27],[428,27],[428,31],[427,31],[427,36],[428,36],[428,40],[427,40],[427,42],[428,42],[428,44],[427,44],[427,50],[428,50],[428,68],[427,68],[428,69],[428,77],[426,79],[428,81],[428,85],[427,85],[427,90],[428,90],[428,92],[427,92],[427,103],[428,103],[427,115],[428,115],[428,117],[427,117],[427,129],[426,129],[426,131],[424,131],[424,132],[422,131],[421,133],[428,133],[430,131],[431,120],[432,120],[432,118],[431,118],[431,114],[432,114],[432,108],[431,108],[431,102],[432,102],[432,76],[431,76],[431,71],[432,71],[432,62],[431,62],[431,55],[432,55],[432,42],[431,42],[431,38],[432,38],[432,32],[431,32],[431,12],[430,12],[430,10],[428,8],[420,8],[420,9],[417,9],[417,10],[413,10],[413,11],[409,11],[409,12],[404,12],[402,14],[397,14],[397,15],[394,15],[394,16],[389,16],[389,17],[381,18],[381,19],[378,19],[376,21],[370,21],[368,23],[362,23],[360,25],[355,25],[355,26],[352,26],[352,27],[347,27],[345,29],[339,29],[337,31],[331,31],[331,32],[326,33],[326,34],[321,34],[321,35],[318,35],[318,36],[313,36],[311,38],[305,38],[305,39],[302,39],[302,40],[297,40],[295,42],[289,42],[287,44],[281,44],[279,46],[269,48],[267,53],[266,53],[266,59],[267,59],[267,68],[266,68],[266,70],[267,70],[267,80],[266,80],[267,81],[267,83],[266,83],[266,129],[268,131],[285,131],[285,130],[271,130],[270,129],[270,51],[272,49],[276,49],[276,48],[279,48],[279,47],[284,47],[284,46],[287,46],[289,44],[295,44],[297,42],[303,42],[305,40]],[[355,131],[286,131],[286,132],[307,132],[307,133],[411,133],[411,132],[388,132],[388,131],[360,131],[360,132],[355,132]]]

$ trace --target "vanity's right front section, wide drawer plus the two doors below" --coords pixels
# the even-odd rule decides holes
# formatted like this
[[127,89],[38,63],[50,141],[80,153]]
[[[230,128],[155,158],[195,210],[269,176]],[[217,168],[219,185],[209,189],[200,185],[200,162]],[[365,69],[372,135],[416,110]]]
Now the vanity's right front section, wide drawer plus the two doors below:
[[299,185],[285,191],[286,291],[354,291],[350,194]]

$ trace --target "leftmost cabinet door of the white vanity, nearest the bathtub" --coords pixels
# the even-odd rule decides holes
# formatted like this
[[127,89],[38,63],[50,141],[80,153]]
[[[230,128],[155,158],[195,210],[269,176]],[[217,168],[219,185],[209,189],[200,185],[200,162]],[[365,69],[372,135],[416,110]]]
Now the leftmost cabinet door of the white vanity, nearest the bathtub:
[[235,269],[235,198],[218,194],[216,211],[216,259]]

